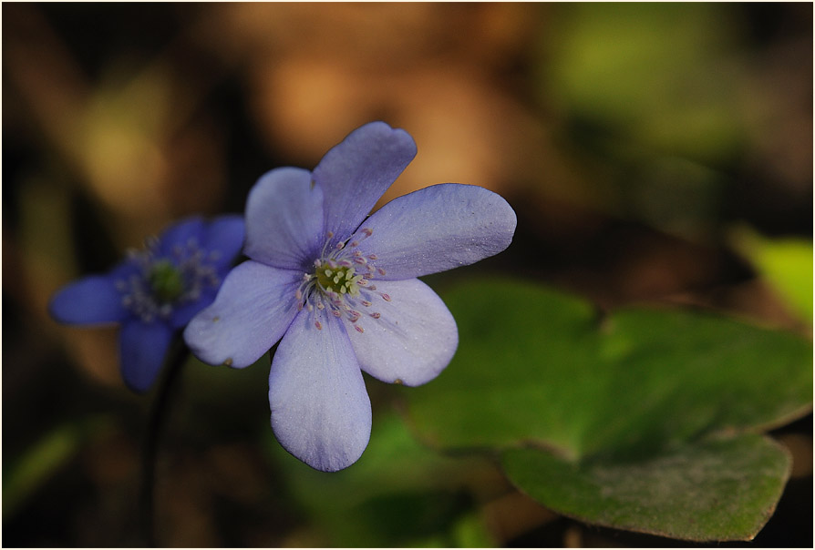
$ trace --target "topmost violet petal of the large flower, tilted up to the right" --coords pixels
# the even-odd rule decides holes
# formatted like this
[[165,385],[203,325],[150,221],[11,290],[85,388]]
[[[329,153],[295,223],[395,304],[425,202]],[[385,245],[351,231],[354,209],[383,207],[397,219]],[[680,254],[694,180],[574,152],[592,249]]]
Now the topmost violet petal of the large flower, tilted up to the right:
[[314,171],[325,193],[325,231],[348,238],[416,156],[408,132],[384,122],[358,127],[329,150]]

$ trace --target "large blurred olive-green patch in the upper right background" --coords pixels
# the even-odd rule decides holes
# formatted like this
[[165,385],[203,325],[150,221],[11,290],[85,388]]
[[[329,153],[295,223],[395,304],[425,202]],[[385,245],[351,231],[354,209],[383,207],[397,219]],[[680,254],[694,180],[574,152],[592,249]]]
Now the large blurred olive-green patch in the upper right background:
[[574,116],[690,158],[742,141],[738,18],[707,4],[565,5],[541,87]]

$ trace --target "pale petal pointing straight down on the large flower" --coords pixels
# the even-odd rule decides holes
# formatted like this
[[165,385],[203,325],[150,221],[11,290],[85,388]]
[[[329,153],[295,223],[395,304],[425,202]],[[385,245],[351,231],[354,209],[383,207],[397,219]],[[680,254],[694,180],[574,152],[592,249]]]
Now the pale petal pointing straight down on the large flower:
[[274,353],[269,373],[272,428],[289,453],[324,472],[362,455],[371,435],[371,402],[340,321],[317,330],[301,311]]

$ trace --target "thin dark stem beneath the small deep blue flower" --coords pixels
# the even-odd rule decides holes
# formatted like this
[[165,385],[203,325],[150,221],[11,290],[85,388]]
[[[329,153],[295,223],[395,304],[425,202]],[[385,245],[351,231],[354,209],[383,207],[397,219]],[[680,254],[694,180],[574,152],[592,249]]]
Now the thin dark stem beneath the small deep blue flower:
[[161,378],[156,400],[150,410],[150,420],[145,433],[141,463],[141,528],[145,545],[156,547],[155,534],[155,487],[156,462],[159,455],[160,433],[167,423],[170,410],[170,397],[177,392],[181,380],[181,367],[187,362],[190,349],[183,339],[177,338],[170,346],[170,352],[164,363],[164,374]]

